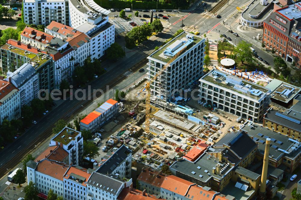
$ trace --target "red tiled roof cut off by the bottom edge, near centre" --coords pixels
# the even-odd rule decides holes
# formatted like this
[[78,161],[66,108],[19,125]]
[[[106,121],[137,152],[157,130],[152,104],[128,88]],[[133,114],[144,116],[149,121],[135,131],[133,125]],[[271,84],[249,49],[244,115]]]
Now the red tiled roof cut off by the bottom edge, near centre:
[[119,196],[117,197],[117,200],[157,200],[153,195],[149,195],[145,193],[143,195],[143,192],[133,188],[131,191],[129,187],[123,188],[123,190],[120,192]]

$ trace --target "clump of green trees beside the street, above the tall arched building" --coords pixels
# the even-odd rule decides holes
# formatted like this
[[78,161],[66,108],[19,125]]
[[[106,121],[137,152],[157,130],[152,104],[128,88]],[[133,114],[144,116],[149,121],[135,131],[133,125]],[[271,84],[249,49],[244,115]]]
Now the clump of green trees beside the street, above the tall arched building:
[[154,20],[150,25],[136,26],[126,34],[126,47],[132,49],[135,44],[141,44],[143,41],[151,37],[153,32],[162,32],[163,25],[160,20]]

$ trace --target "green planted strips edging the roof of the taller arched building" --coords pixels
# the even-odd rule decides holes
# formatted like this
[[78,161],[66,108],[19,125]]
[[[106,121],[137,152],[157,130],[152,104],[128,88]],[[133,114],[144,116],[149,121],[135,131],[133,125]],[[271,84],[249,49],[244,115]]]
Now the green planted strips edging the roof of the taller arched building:
[[[186,33],[186,34],[184,33],[184,34],[182,34],[182,35],[174,38],[172,41],[170,41],[169,43],[165,44],[163,47],[161,47],[160,49],[158,49],[153,55],[151,55],[151,57],[154,58],[154,59],[161,60],[163,62],[168,62],[171,59],[171,57],[166,56],[166,58],[164,58],[164,57],[161,57],[160,54],[163,53],[163,51],[166,50],[166,47],[168,47],[169,45],[173,44],[177,40],[181,40],[182,38],[185,38],[187,34],[188,33]],[[193,47],[195,44],[197,44],[198,42],[200,42],[202,39],[203,38],[199,38],[196,35],[194,35],[194,42],[191,43],[190,45],[188,45],[186,47],[185,51],[187,51],[188,49],[190,49],[191,47]],[[183,51],[182,53],[184,53],[185,51]]]

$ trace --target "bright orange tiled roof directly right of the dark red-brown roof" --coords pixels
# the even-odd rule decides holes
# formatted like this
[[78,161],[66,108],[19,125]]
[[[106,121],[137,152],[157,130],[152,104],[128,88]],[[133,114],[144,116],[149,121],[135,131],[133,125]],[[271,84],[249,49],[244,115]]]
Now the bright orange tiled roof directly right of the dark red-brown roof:
[[174,175],[169,175],[164,178],[161,187],[171,192],[178,193],[179,195],[185,196],[189,187],[194,184],[195,183],[191,183],[187,180],[176,177]]

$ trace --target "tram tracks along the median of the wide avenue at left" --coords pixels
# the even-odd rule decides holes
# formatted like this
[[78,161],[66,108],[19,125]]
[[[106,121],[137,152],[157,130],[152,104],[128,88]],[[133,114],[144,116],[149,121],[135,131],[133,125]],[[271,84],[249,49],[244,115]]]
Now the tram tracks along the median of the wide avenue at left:
[[[147,58],[144,58],[140,62],[133,65],[128,70],[125,70],[124,72],[129,71],[129,70],[131,70],[133,72],[138,71],[146,63],[147,63]],[[126,75],[122,75],[122,74],[123,73],[121,73],[120,76],[116,77],[114,80],[111,80],[109,83],[107,83],[100,89],[102,91],[104,91],[104,93],[106,93],[107,85],[109,85],[112,88],[112,87],[118,85],[119,83],[121,83],[123,80],[125,80],[127,78]],[[94,95],[94,93],[92,93],[90,95],[90,98],[77,103],[73,108],[71,108],[69,111],[67,111],[59,120],[70,121],[72,116],[76,115],[77,113],[79,113],[80,111],[82,111],[84,109],[82,107],[82,105],[84,107],[86,107],[93,102],[93,95]],[[101,96],[101,94],[99,92],[96,93],[97,98],[100,96]],[[54,124],[49,126],[48,129],[46,129],[46,131],[44,131],[42,134],[40,134],[32,143],[28,144],[23,149],[23,151],[21,151],[20,153],[15,155],[10,161],[8,161],[4,165],[2,165],[2,167],[0,168],[0,177],[3,177],[6,173],[8,173],[12,169],[14,169],[21,161],[23,161],[23,159],[25,159],[25,157],[27,156],[28,153],[31,153],[33,150],[36,149],[36,147],[38,147],[41,143],[43,143],[45,140],[47,140],[52,135],[53,128],[54,128]]]

